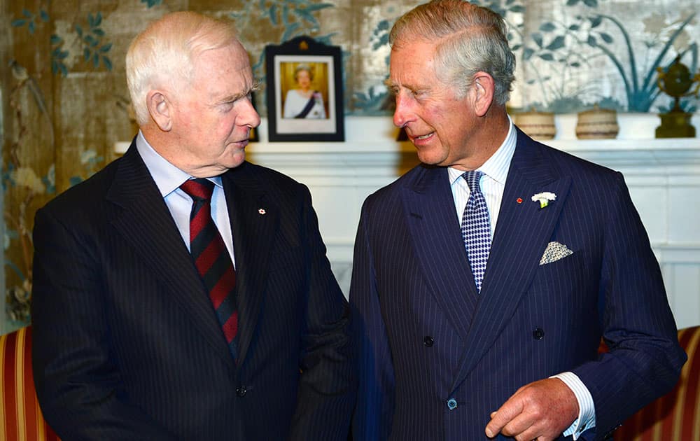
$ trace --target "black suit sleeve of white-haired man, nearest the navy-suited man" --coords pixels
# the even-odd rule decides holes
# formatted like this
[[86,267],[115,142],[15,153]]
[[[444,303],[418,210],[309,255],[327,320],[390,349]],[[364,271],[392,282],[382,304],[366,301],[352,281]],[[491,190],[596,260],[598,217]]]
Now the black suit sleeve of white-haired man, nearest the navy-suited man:
[[325,255],[311,195],[302,188],[302,244],[309,286],[290,439],[346,441],[357,389],[349,307]]

